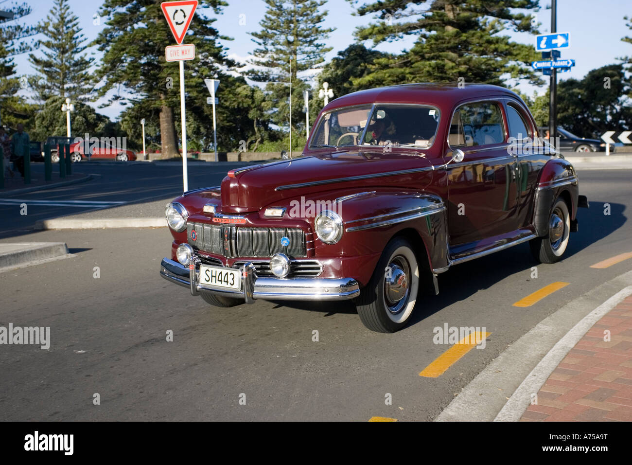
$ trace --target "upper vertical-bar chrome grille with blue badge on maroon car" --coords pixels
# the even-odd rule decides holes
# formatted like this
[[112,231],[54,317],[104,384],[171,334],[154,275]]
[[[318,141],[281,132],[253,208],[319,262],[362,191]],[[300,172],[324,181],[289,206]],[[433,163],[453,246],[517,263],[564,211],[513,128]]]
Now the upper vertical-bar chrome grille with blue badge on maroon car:
[[[193,239],[195,231],[195,239]],[[307,257],[305,233],[300,228],[248,228],[241,226],[186,224],[191,247],[224,257],[271,257],[281,252],[289,257]],[[289,245],[281,245],[287,237]]]

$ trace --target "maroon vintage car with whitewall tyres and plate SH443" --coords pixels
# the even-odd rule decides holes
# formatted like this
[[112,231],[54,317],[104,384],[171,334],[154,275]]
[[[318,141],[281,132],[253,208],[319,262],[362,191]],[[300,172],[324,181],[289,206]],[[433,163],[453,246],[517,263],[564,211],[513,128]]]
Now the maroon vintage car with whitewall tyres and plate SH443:
[[220,307],[353,299],[367,328],[394,332],[451,266],[526,241],[561,259],[581,206],[573,166],[514,92],[364,90],[320,112],[300,158],[167,205],[161,275]]

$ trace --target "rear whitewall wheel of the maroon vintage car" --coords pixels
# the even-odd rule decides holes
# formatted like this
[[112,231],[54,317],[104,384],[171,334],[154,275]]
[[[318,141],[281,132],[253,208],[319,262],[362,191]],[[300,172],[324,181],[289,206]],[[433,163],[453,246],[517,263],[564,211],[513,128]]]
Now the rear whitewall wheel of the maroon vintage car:
[[556,263],[568,246],[571,215],[562,199],[557,199],[549,216],[549,233],[529,241],[533,257],[541,263]]

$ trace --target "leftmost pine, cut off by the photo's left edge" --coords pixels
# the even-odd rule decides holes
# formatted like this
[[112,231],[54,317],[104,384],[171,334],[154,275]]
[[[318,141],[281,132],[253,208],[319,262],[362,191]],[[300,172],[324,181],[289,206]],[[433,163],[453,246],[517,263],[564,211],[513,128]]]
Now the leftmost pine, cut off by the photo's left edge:
[[16,76],[13,57],[32,49],[32,44],[25,39],[32,37],[36,30],[20,23],[20,19],[32,11],[27,3],[2,9],[12,13],[13,18],[0,18],[0,124],[15,127],[18,122],[28,120],[30,111],[29,105],[16,95],[26,81]]

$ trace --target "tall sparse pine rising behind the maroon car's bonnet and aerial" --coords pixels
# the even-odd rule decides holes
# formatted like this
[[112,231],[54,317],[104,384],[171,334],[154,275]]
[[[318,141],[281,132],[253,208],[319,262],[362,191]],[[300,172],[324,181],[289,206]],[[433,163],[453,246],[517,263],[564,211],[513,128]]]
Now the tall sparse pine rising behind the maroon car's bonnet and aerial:
[[317,70],[324,63],[324,55],[332,47],[324,40],[334,31],[325,28],[327,11],[320,8],[326,0],[264,0],[268,8],[259,25],[259,32],[251,33],[257,48],[250,61],[257,66],[248,72],[256,82],[267,83],[266,109],[275,110],[272,121],[279,126],[289,123],[289,92],[292,93],[292,125],[303,127],[303,90],[308,89],[301,73]]

